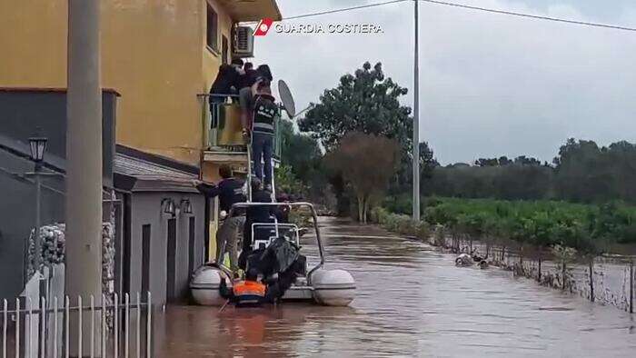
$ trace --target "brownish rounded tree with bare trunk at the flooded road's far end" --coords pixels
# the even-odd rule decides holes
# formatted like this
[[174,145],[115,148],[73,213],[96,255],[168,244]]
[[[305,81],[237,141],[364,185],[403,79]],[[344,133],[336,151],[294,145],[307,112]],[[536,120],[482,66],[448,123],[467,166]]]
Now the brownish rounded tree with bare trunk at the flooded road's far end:
[[327,163],[353,186],[358,220],[366,224],[374,195],[381,194],[393,176],[398,145],[394,140],[352,132],[327,154]]

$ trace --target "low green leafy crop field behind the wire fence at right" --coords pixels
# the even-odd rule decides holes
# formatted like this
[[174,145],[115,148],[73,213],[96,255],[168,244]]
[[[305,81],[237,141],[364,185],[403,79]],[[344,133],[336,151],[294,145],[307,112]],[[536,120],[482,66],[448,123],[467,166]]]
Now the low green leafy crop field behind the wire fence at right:
[[[571,204],[554,201],[429,198],[424,224],[404,214],[376,208],[377,222],[399,234],[428,237],[431,227],[482,237],[506,239],[542,247],[575,248],[581,254],[600,254],[611,242],[636,243],[636,207],[621,202]],[[388,209],[388,210],[387,210]]]

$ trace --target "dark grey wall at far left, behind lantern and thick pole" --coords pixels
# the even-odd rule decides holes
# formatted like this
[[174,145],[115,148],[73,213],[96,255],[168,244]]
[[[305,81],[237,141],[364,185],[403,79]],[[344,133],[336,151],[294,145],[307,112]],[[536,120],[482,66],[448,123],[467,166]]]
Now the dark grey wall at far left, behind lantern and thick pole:
[[[104,92],[104,185],[112,186],[116,95]],[[38,133],[39,132],[39,133]],[[35,225],[35,185],[11,173],[33,171],[28,138],[49,139],[45,164],[65,169],[66,95],[62,91],[0,91],[0,299],[13,299],[25,284],[25,242]],[[7,173],[8,172],[8,173]],[[64,192],[64,180],[45,185]],[[64,222],[64,194],[43,188],[42,224]]]

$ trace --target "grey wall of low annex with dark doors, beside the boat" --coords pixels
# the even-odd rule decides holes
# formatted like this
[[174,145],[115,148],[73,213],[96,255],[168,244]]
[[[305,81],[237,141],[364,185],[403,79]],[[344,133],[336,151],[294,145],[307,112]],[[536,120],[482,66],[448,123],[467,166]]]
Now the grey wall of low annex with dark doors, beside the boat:
[[[168,217],[162,214],[161,204],[164,198],[172,198],[174,203],[181,203],[182,199],[189,199],[193,205],[195,218],[195,247],[194,269],[204,261],[204,197],[201,194],[153,194],[134,193],[131,198],[131,253],[130,253],[130,293],[136,294],[142,287],[142,226],[151,225],[150,239],[150,291],[153,293],[154,303],[165,303],[166,277],[169,270],[166,264],[167,253],[167,223]],[[186,298],[188,294],[189,260],[189,215],[176,216],[176,259],[174,267],[174,287],[177,296]]]

